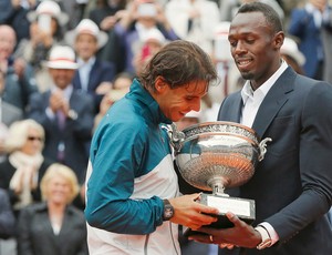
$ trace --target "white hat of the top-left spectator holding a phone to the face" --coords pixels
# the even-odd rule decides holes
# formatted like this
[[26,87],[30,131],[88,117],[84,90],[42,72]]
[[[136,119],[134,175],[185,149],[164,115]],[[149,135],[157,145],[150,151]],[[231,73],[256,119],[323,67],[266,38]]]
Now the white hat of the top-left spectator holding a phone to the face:
[[69,21],[69,16],[62,12],[60,6],[55,1],[44,0],[42,1],[34,11],[28,12],[27,17],[30,22],[35,21],[38,16],[49,14],[56,19],[60,26],[65,26]]

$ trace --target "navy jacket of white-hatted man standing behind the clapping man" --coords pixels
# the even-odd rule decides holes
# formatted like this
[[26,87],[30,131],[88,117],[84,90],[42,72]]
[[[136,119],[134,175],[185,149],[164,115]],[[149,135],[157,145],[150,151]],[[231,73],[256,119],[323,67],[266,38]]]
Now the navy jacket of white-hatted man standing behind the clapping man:
[[[103,95],[96,94],[96,88],[104,81],[113,82],[115,76],[115,67],[111,62],[95,60],[87,83],[87,93],[93,96],[95,111],[98,111],[98,105],[102,101]],[[74,79],[72,81],[75,90],[82,90],[81,79],[79,70],[76,70]]]

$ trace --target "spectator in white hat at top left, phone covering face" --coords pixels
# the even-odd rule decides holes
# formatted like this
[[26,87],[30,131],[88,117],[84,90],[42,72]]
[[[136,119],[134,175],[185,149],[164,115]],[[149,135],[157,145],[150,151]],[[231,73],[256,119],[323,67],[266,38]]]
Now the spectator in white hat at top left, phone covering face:
[[49,88],[51,78],[43,65],[50,49],[63,41],[63,32],[69,21],[69,16],[63,12],[58,2],[41,1],[37,9],[28,12],[30,24],[30,39],[23,39],[18,45],[15,55],[25,60],[33,67],[35,81],[40,91]]

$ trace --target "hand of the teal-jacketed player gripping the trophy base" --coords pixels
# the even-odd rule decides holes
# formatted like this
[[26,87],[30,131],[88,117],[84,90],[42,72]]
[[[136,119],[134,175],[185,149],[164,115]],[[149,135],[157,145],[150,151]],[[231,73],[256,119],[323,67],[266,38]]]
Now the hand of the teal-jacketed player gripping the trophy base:
[[218,214],[218,210],[210,207],[196,201],[200,194],[183,195],[170,198],[169,203],[174,208],[174,215],[169,220],[173,223],[197,230],[203,225],[209,225],[217,221],[214,215]]

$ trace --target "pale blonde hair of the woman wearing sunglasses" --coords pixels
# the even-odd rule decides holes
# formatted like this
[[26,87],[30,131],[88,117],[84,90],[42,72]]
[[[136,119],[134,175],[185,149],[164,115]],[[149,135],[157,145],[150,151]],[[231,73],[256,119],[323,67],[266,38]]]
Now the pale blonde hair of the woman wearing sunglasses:
[[22,121],[15,121],[9,126],[9,134],[6,139],[6,151],[11,153],[19,151],[25,144],[29,136],[29,129],[37,130],[42,139],[42,143],[45,139],[45,132],[41,124],[32,119]]

